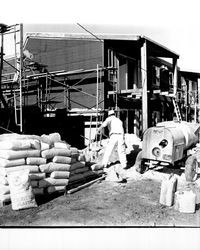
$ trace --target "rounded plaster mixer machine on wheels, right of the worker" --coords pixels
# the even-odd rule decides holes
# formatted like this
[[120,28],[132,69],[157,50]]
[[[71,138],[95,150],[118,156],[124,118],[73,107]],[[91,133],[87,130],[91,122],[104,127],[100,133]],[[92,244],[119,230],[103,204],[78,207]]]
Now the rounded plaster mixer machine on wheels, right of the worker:
[[187,181],[197,179],[200,162],[200,124],[166,121],[143,135],[140,172],[158,166],[183,167]]

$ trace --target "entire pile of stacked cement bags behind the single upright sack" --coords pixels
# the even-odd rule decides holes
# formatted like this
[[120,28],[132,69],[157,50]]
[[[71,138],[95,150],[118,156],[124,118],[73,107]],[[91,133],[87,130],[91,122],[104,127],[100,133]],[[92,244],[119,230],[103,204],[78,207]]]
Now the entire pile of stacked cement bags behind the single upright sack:
[[103,170],[92,170],[80,151],[50,135],[0,135],[0,201],[9,202],[9,174],[29,171],[35,196],[65,191],[66,187],[99,177]]

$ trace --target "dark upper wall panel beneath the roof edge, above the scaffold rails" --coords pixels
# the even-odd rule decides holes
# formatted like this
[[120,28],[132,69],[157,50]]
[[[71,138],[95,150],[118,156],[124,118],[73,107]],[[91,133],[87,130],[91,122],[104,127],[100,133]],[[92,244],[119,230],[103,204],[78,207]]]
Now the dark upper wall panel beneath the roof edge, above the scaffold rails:
[[26,49],[34,61],[48,66],[48,71],[96,68],[102,65],[102,43],[88,40],[29,38]]

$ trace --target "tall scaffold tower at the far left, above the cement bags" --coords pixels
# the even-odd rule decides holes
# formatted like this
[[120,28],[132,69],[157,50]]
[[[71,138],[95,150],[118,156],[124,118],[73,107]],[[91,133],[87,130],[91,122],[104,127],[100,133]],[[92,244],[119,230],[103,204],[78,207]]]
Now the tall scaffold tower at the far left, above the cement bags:
[[[14,104],[15,121],[19,126],[20,132],[23,131],[23,117],[22,117],[22,85],[24,83],[25,75],[23,70],[23,25],[1,25],[1,70],[0,70],[0,96],[1,102],[5,109],[9,104]],[[14,44],[14,58],[10,63],[4,59],[4,39],[6,36],[10,37],[10,42]],[[12,73],[3,74],[5,67],[9,66],[13,69]],[[11,81],[3,80],[3,78],[11,79]],[[5,84],[8,88],[5,91]]]

